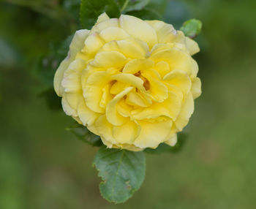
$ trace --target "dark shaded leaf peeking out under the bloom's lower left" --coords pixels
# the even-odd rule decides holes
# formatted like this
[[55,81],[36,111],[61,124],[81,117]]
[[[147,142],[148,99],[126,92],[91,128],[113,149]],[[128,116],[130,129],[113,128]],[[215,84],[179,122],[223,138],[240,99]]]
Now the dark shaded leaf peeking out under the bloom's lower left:
[[101,146],[102,145],[102,140],[100,139],[100,137],[97,136],[96,134],[91,133],[86,128],[86,126],[76,123],[75,125],[69,126],[66,129],[67,129],[67,131],[70,131],[73,134],[75,134],[75,136],[78,137],[78,140],[86,142],[89,145],[93,145],[93,146]]

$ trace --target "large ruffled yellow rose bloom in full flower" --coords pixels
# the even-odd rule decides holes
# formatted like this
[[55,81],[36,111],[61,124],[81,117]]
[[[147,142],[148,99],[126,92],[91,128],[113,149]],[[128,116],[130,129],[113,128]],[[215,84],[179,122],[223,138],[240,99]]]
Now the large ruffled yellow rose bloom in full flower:
[[103,13],[75,33],[54,77],[67,115],[108,148],[175,145],[201,94],[196,42],[159,20]]

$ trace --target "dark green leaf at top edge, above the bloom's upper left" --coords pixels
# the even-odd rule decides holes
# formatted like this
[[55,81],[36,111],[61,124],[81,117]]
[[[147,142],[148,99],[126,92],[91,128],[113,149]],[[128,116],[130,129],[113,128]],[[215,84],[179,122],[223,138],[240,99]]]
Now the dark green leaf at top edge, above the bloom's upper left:
[[120,10],[114,0],[81,0],[80,5],[80,26],[91,29],[99,15],[106,12],[110,18],[118,18]]

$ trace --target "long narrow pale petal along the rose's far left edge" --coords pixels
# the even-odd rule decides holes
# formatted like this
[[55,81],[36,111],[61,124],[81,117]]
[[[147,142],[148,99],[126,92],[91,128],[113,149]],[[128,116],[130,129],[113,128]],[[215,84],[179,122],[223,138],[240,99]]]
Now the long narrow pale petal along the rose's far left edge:
[[75,55],[78,53],[78,51],[80,51],[83,48],[83,42],[88,36],[88,34],[89,30],[80,30],[75,32],[72,42],[69,45],[68,56],[64,59],[64,61],[61,62],[59,68],[56,71],[56,74],[54,75],[53,86],[58,96],[61,96],[64,91],[63,87],[61,86],[64,72],[69,66],[69,64],[75,59]]

